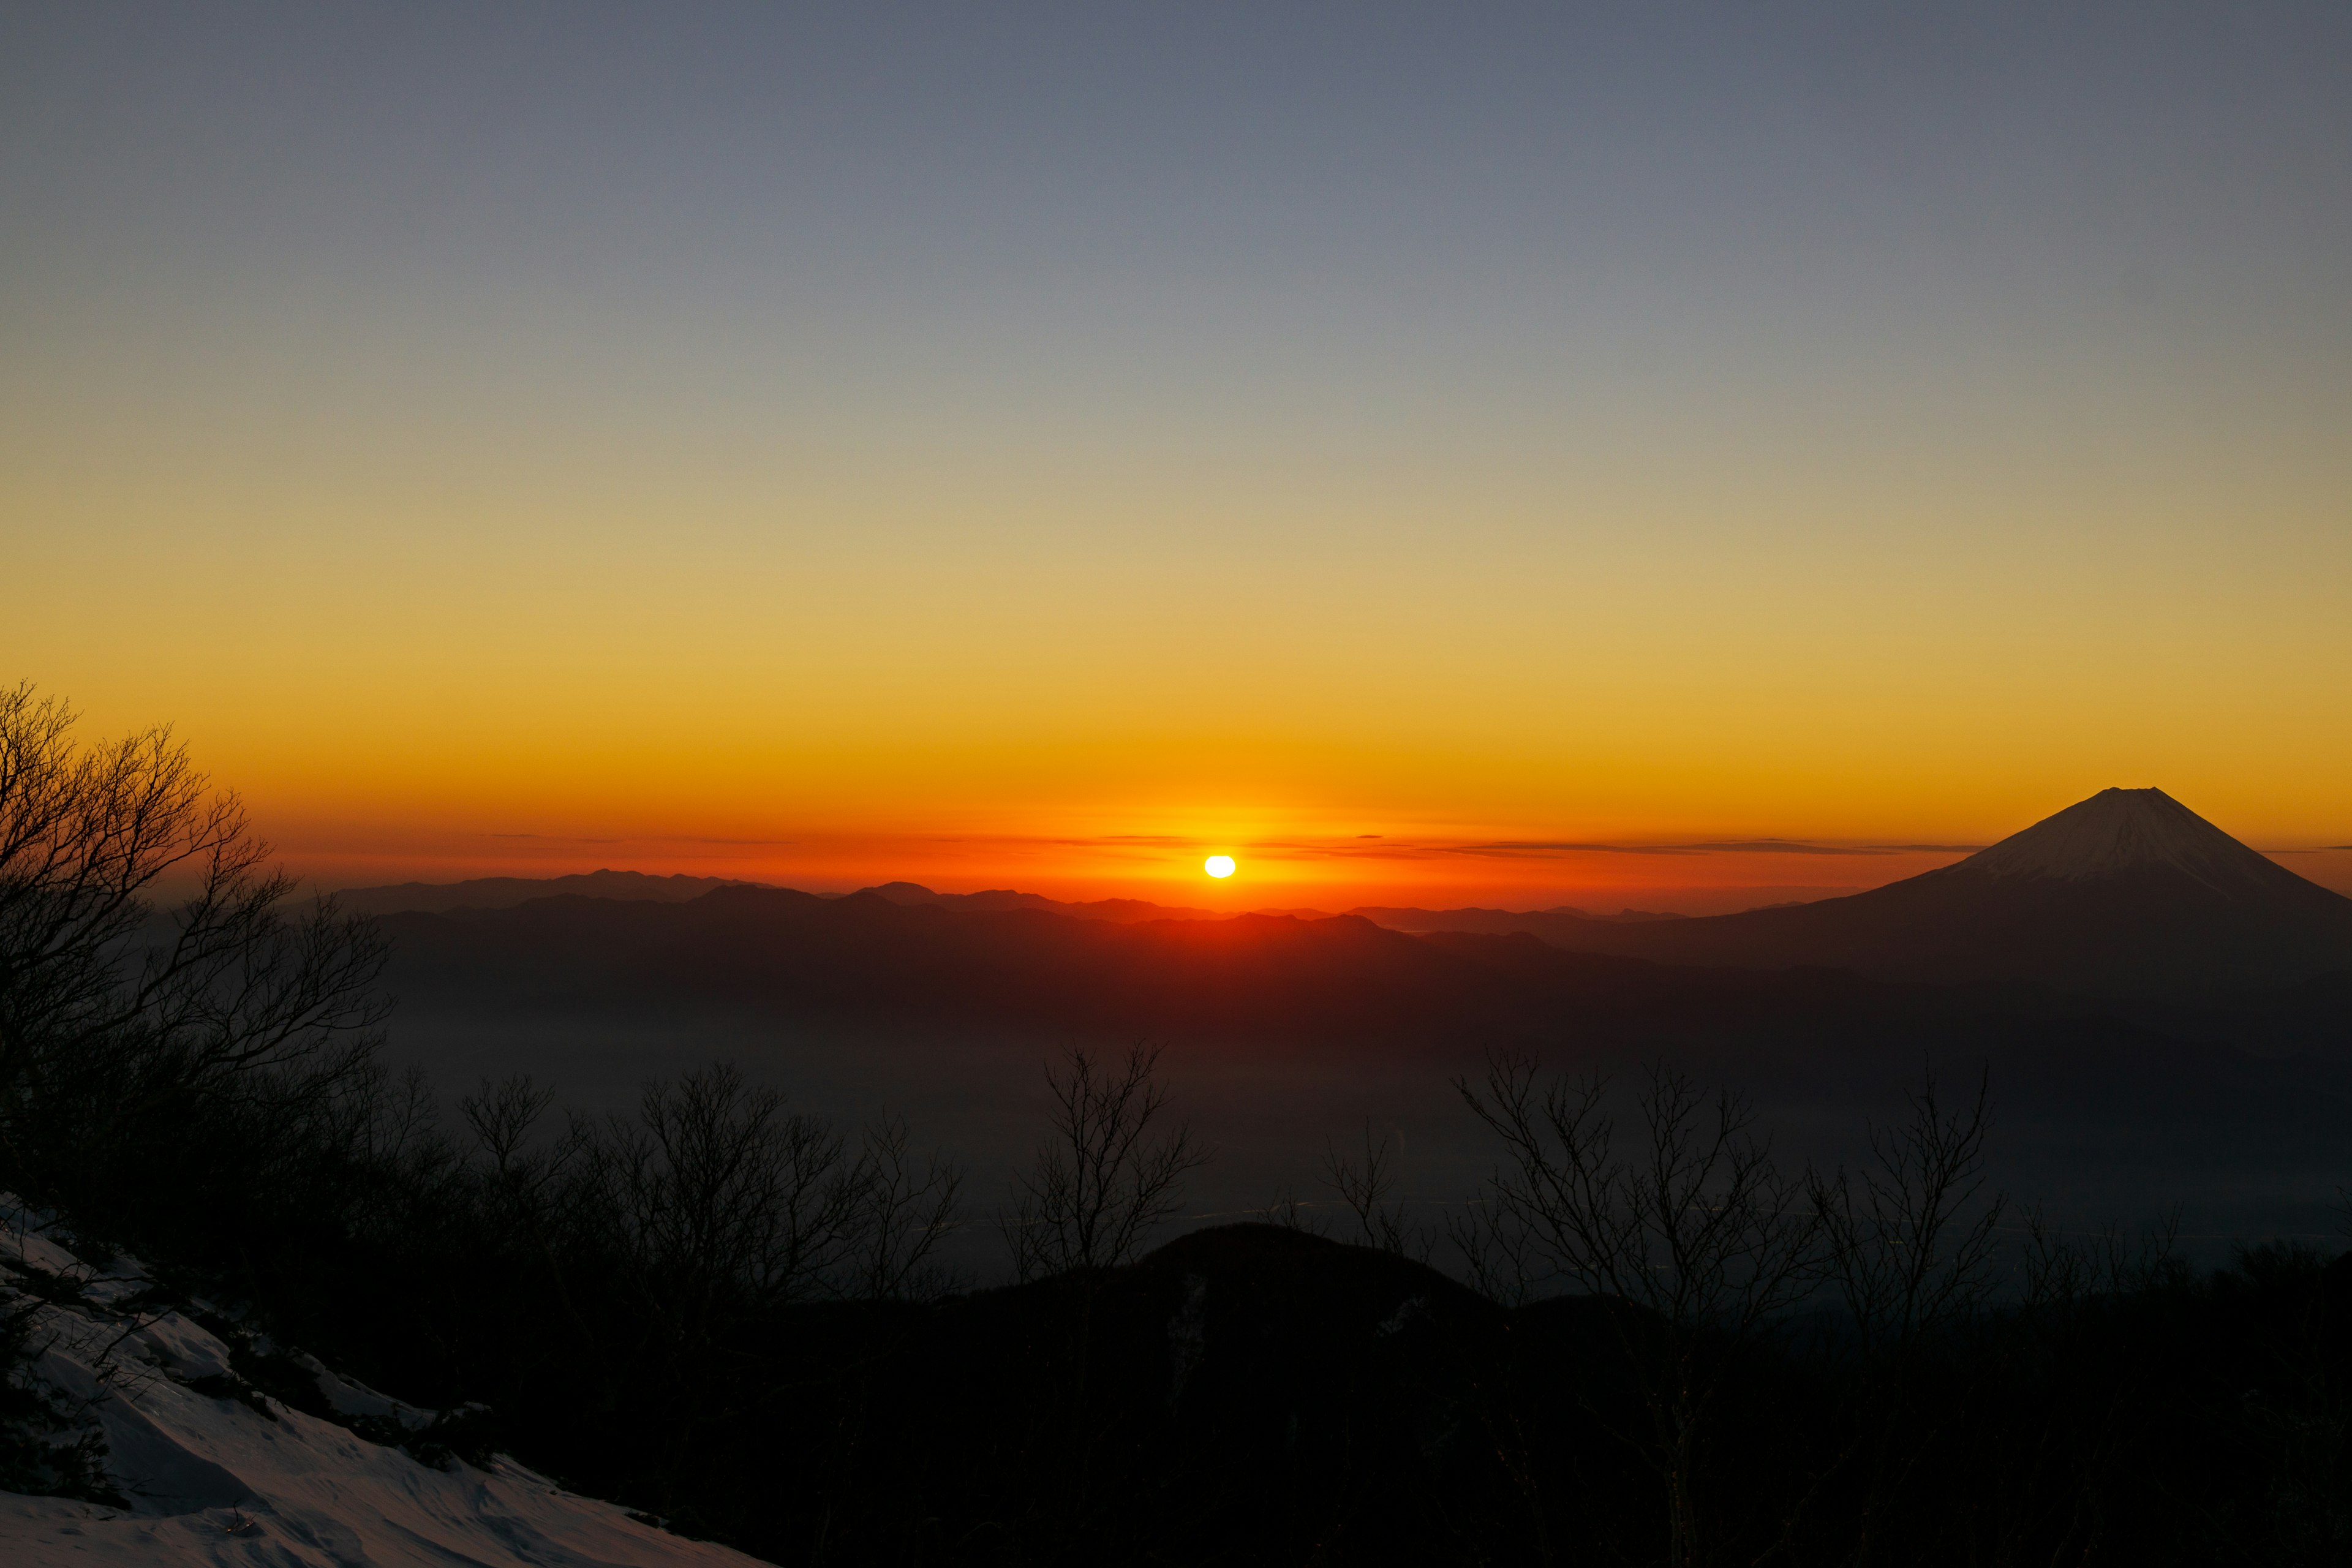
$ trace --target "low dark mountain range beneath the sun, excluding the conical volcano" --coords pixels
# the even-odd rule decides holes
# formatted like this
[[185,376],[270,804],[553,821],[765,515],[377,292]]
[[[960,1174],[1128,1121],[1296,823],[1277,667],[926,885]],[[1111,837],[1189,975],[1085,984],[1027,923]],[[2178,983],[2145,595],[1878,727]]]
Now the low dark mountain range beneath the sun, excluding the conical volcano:
[[[390,914],[402,1013],[755,1013],[1044,1039],[1254,1039],[1298,1046],[1945,1032],[2002,999],[1828,971],[1670,969],[1534,936],[1369,919],[1073,919],[880,893],[720,889],[682,905],[539,898]],[[1917,1025],[1917,1027],[1912,1027]]]

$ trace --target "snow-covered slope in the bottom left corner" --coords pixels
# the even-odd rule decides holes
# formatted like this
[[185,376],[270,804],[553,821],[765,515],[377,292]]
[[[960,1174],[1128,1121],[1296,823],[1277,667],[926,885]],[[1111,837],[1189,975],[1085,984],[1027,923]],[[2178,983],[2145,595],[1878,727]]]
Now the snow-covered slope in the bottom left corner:
[[[26,1293],[45,1302],[33,1314],[40,1354],[16,1375],[42,1380],[73,1425],[103,1434],[106,1483],[122,1507],[0,1493],[0,1563],[12,1568],[755,1561],[564,1493],[503,1455],[487,1469],[459,1458],[433,1467],[369,1441],[343,1422],[400,1441],[435,1413],[285,1356],[198,1302],[158,1307],[136,1262],[87,1267],[45,1215],[0,1199],[0,1295],[26,1302]],[[303,1368],[332,1418],[240,1380],[223,1333],[242,1340],[247,1363],[259,1352]]]

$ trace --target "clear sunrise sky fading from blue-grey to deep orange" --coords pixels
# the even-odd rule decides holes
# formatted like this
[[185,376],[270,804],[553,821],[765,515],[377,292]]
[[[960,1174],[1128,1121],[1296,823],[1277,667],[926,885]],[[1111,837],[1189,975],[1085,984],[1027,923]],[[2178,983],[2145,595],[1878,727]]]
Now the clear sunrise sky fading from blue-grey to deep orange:
[[0,5],[0,677],[322,884],[1698,910],[2159,785],[2352,886],[2347,75],[2336,5]]

